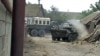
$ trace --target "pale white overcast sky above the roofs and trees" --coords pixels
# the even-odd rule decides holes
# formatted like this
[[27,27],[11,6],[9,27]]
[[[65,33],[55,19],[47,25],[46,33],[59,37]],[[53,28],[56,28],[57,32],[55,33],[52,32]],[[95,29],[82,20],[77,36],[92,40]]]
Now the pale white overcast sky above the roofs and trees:
[[[41,0],[43,8],[50,10],[53,5],[58,8],[59,11],[65,12],[81,12],[89,9],[90,4],[95,4],[98,0]],[[37,4],[38,0],[26,0],[26,2],[31,2]]]

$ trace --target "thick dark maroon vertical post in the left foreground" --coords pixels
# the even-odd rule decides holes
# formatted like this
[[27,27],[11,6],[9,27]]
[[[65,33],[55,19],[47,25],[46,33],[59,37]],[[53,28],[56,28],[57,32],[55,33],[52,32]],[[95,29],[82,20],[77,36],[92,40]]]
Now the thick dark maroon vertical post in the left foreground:
[[25,0],[13,0],[11,56],[23,56]]

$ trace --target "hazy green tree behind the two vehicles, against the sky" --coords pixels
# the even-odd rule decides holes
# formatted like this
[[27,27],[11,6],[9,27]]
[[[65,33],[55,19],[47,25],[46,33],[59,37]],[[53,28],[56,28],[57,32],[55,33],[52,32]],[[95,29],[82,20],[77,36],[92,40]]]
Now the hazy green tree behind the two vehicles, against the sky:
[[58,8],[51,6],[51,11],[46,11],[46,16],[50,17],[52,21],[57,21],[58,23],[62,23],[66,21],[66,15],[59,12]]

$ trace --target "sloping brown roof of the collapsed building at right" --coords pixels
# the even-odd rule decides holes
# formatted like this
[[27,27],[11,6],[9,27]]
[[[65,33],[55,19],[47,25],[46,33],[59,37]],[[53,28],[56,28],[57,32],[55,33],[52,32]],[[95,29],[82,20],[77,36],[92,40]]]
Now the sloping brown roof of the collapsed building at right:
[[96,18],[98,18],[98,17],[100,17],[100,11],[93,12],[92,14],[86,16],[85,18],[83,18],[83,19],[81,20],[81,22],[82,22],[83,24],[87,24],[87,23],[89,23],[90,21],[92,21],[92,20],[94,20],[94,19],[96,19]]

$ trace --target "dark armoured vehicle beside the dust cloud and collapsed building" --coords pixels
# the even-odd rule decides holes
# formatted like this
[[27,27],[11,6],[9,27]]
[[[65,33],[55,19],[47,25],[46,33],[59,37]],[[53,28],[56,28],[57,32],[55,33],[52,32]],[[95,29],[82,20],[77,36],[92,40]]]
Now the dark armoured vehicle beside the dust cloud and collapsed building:
[[53,41],[67,41],[71,42],[77,39],[78,33],[72,24],[66,22],[58,25],[57,23],[52,25],[51,35]]

